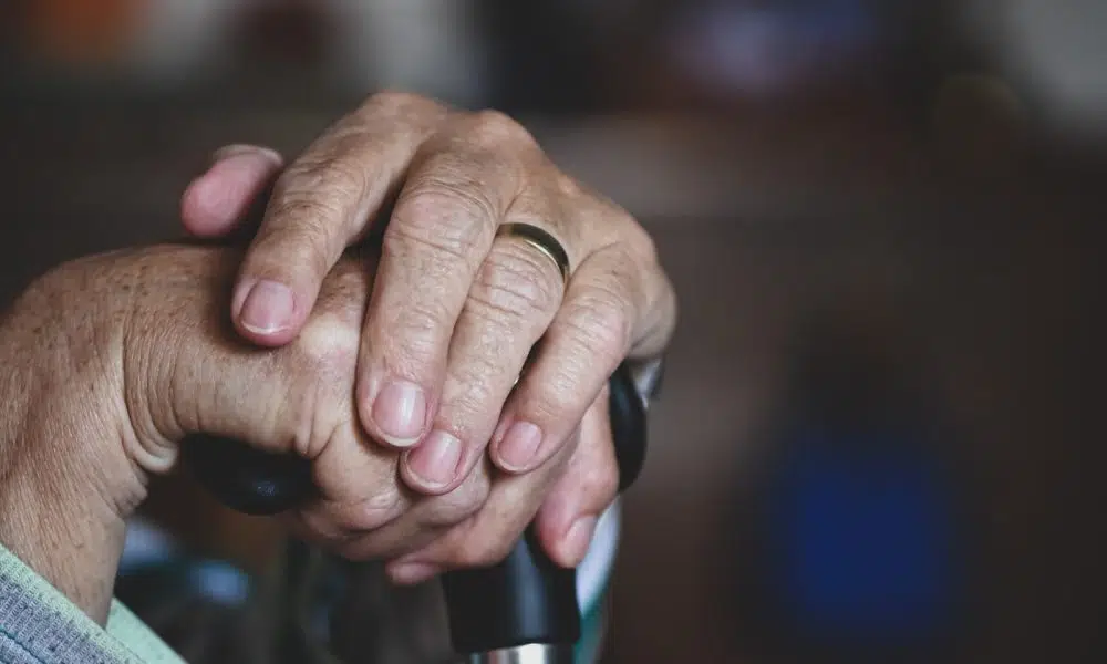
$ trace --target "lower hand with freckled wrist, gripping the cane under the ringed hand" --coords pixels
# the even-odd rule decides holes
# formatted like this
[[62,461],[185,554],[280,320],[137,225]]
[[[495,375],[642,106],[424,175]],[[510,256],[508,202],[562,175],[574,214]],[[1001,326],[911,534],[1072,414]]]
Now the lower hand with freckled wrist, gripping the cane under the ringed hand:
[[[174,466],[177,443],[207,433],[312,459],[320,498],[284,518],[342,556],[394,560],[443,537],[452,549],[439,566],[505,554],[531,518],[517,501],[523,478],[493,480],[479,465],[447,495],[413,494],[399,479],[400,453],[372,445],[358,422],[354,360],[375,261],[338,262],[298,338],[259,350],[227,315],[241,258],[165,246],[82,259],[37,280],[3,315],[0,541],[103,621],[125,519],[151,476]],[[600,417],[584,429],[602,439],[606,426]],[[581,471],[559,480],[565,490],[610,500],[609,448],[567,446],[538,473],[566,465]],[[489,531],[510,535],[472,537]]]

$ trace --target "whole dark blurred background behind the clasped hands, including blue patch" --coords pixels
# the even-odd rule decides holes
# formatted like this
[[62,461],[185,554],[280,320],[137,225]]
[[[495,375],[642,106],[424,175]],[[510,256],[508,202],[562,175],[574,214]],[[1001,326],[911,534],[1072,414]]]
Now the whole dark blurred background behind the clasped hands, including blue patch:
[[[0,295],[373,91],[527,125],[682,302],[606,662],[1092,662],[1097,0],[8,0]],[[266,522],[147,513],[261,569]]]

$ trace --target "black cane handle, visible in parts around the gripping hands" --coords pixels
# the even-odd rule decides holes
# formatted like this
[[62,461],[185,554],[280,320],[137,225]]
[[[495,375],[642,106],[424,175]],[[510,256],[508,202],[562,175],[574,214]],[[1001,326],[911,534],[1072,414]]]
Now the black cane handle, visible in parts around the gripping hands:
[[[620,490],[639,476],[645,460],[645,408],[629,369],[610,382],[611,429]],[[190,436],[184,463],[220,502],[249,515],[276,515],[315,492],[311,465],[237,440]],[[443,575],[451,637],[458,654],[485,653],[527,643],[570,645],[580,639],[576,571],[560,568],[531,533],[497,566]]]

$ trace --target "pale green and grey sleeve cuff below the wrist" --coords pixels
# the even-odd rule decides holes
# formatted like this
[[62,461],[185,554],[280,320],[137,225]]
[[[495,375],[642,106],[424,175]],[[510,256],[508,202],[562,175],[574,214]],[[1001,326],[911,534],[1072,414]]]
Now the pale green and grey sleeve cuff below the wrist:
[[0,546],[0,663],[184,664],[113,600],[107,629]]

